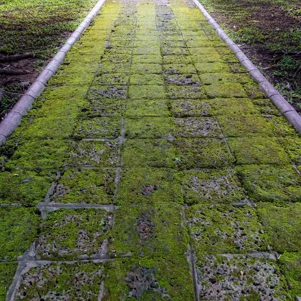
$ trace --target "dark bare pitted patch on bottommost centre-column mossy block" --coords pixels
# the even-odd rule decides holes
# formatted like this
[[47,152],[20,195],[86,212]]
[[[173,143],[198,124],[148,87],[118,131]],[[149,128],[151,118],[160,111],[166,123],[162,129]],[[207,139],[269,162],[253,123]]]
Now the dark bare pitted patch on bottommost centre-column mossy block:
[[128,296],[140,299],[144,291],[154,290],[161,293],[161,297],[169,297],[166,289],[161,288],[154,276],[156,268],[145,268],[142,266],[135,266],[130,272],[126,273],[123,279],[127,282],[130,289]]

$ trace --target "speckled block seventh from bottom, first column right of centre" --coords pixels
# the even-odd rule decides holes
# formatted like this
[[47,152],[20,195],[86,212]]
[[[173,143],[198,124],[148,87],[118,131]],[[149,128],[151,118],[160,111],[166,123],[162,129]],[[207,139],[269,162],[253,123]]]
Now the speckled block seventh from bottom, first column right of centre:
[[203,87],[194,85],[167,85],[167,95],[170,99],[204,99],[206,93]]

